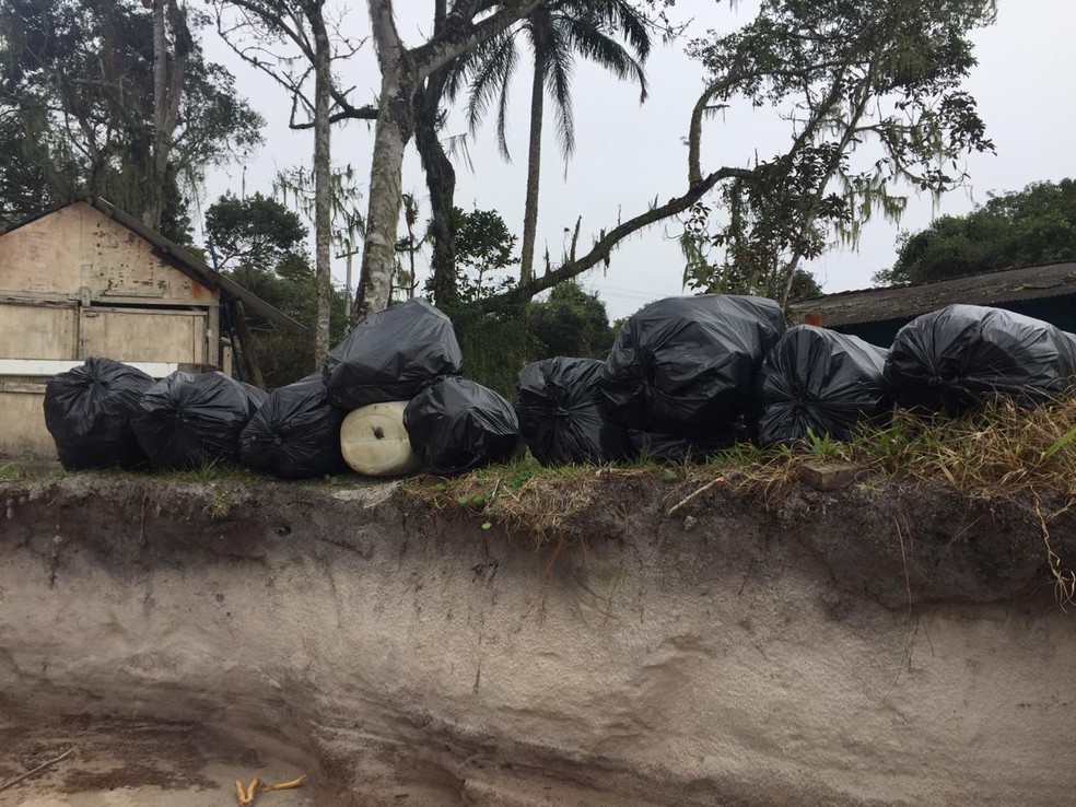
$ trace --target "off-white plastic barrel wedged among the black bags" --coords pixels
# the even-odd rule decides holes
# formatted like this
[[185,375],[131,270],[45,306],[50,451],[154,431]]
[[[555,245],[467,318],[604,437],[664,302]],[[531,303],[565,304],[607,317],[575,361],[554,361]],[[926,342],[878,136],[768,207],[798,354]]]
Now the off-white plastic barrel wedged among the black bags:
[[404,429],[408,402],[371,404],[343,419],[340,451],[352,470],[367,477],[395,477],[422,469]]

